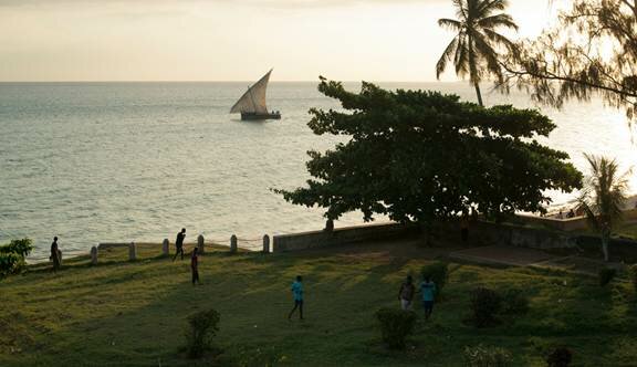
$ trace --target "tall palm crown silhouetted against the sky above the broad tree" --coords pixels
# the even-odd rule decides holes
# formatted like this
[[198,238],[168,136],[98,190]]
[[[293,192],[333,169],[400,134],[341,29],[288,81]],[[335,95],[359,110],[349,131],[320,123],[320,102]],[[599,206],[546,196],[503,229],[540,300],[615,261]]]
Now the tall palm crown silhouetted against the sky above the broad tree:
[[447,69],[447,62],[456,65],[460,77],[469,74],[469,81],[476,87],[478,103],[482,106],[480,82],[482,76],[492,74],[502,80],[502,70],[498,61],[498,49],[515,51],[515,44],[495,30],[500,27],[518,30],[511,15],[495,13],[504,10],[508,0],[452,0],[456,6],[455,19],[439,19],[438,25],[457,32],[442,56],[436,64],[436,77]]

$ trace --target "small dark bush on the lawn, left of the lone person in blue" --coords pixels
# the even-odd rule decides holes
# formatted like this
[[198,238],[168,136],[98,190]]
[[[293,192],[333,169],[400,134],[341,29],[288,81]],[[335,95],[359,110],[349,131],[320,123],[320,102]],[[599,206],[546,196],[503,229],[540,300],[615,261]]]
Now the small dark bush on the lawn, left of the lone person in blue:
[[215,310],[188,316],[190,328],[186,333],[186,348],[190,358],[199,358],[210,349],[211,338],[219,331],[219,313]]

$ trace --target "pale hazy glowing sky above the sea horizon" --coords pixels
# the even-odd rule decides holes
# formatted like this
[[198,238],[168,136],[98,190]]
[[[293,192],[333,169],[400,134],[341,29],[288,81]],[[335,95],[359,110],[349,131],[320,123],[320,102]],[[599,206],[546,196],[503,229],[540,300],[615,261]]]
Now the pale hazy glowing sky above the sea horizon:
[[[509,12],[534,35],[554,9]],[[0,0],[0,81],[435,81],[442,17],[451,0]]]

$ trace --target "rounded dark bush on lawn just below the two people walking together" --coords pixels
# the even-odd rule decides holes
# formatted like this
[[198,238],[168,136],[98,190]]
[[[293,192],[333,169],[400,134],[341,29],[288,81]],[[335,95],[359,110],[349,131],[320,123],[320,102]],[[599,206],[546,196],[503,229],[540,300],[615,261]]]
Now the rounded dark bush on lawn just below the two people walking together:
[[405,340],[414,333],[416,313],[413,311],[380,308],[376,312],[383,342],[391,349],[405,348]]

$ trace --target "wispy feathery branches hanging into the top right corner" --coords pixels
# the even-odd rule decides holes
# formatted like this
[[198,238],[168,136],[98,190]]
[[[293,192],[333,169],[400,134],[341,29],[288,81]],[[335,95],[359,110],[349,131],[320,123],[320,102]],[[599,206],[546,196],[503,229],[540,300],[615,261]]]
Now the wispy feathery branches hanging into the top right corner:
[[598,94],[637,117],[637,0],[574,0],[555,27],[521,42],[503,66],[504,90],[526,88],[555,107]]

